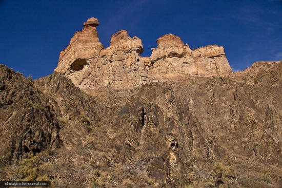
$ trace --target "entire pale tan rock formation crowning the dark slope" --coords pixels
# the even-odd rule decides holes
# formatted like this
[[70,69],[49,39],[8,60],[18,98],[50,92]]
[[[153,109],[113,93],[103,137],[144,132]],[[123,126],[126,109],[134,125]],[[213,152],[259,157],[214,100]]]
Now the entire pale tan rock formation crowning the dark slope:
[[217,45],[191,50],[174,34],[161,36],[150,57],[140,57],[142,41],[127,30],[111,36],[110,47],[99,43],[96,18],[74,34],[59,57],[56,72],[63,72],[80,88],[132,87],[161,82],[173,77],[222,76],[232,72],[223,47]]

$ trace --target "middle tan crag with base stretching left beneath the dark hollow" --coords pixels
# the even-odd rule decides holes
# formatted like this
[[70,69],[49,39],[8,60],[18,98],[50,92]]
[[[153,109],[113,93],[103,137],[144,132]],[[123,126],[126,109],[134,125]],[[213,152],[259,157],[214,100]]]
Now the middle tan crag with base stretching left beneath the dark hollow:
[[131,87],[148,82],[147,71],[140,61],[142,41],[131,38],[126,30],[111,37],[111,46],[99,52],[99,59],[90,60],[82,72],[69,74],[72,82],[80,88],[95,88],[107,85]]

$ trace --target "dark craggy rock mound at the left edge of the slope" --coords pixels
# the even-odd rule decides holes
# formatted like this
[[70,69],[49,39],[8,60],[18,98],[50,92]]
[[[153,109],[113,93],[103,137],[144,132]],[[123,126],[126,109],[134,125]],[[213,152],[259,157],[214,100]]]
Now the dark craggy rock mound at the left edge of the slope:
[[0,163],[62,144],[57,114],[32,80],[0,65]]

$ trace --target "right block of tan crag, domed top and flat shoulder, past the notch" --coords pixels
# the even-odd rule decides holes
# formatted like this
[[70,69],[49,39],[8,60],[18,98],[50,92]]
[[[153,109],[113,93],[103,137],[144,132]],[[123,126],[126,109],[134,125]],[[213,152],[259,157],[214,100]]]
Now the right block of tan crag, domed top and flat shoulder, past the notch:
[[223,47],[217,45],[191,50],[173,34],[161,36],[150,57],[150,70],[156,74],[219,76],[232,72]]

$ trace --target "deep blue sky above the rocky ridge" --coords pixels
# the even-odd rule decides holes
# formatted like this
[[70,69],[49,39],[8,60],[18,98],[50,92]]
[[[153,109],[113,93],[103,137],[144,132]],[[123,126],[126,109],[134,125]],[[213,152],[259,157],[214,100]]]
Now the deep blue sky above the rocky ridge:
[[59,52],[87,18],[98,18],[100,42],[127,29],[150,56],[173,33],[190,48],[224,46],[233,70],[282,60],[282,1],[12,1],[0,0],[0,63],[33,79],[57,66]]

